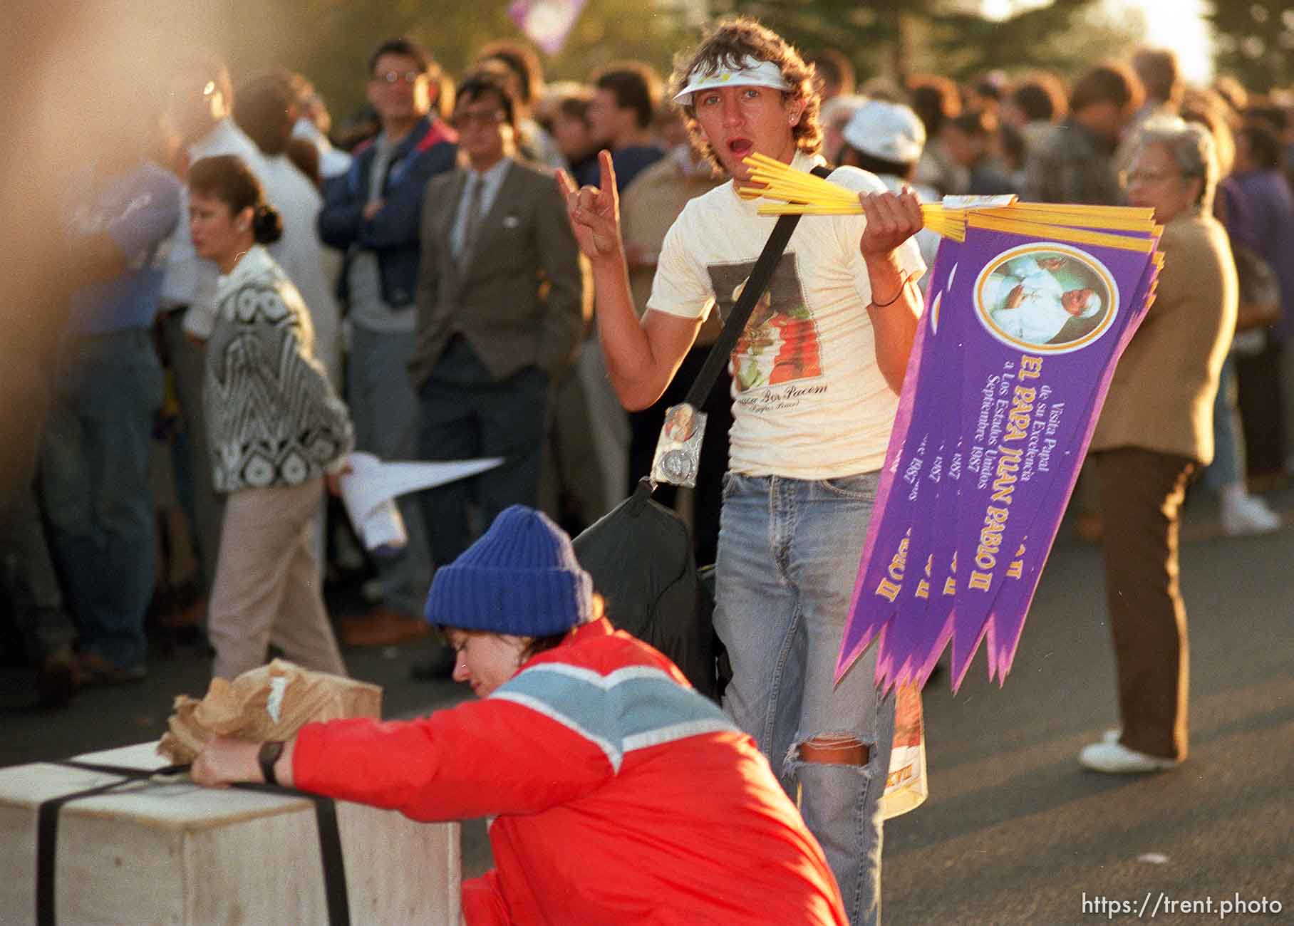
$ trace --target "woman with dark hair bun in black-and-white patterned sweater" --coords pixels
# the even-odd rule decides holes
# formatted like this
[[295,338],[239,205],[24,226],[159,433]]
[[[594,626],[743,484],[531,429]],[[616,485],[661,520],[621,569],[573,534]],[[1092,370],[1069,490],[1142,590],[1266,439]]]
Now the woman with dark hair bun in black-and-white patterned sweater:
[[312,524],[325,476],[353,444],[351,418],[314,356],[296,287],[263,247],[282,221],[236,156],[189,171],[189,226],[220,268],[203,402],[216,490],[228,493],[211,590],[212,673],[259,666],[273,643],[309,669],[345,674],[320,592]]

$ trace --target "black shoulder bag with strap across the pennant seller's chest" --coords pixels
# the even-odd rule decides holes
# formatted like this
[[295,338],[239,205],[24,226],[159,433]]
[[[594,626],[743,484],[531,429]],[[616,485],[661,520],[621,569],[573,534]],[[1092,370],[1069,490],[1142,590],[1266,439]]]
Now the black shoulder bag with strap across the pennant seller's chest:
[[[829,171],[819,167],[814,173],[826,177]],[[797,215],[782,216],[769,235],[687,392],[685,401],[694,409],[705,404],[731,358],[798,222]],[[663,652],[696,691],[718,701],[730,673],[719,669],[726,658],[710,621],[713,596],[696,569],[687,525],[673,510],[652,501],[653,489],[650,477],[641,479],[629,498],[575,538],[575,552],[606,599],[611,622]]]

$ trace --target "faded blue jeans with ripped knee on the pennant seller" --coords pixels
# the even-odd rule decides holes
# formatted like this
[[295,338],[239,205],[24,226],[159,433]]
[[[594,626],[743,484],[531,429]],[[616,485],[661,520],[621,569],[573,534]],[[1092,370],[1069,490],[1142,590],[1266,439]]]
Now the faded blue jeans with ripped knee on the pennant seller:
[[[855,926],[880,922],[894,698],[873,685],[875,648],[839,685],[832,674],[877,482],[729,473],[716,569],[714,629],[732,661],[725,710],[798,797]],[[817,736],[858,738],[867,764],[802,762],[798,745]]]

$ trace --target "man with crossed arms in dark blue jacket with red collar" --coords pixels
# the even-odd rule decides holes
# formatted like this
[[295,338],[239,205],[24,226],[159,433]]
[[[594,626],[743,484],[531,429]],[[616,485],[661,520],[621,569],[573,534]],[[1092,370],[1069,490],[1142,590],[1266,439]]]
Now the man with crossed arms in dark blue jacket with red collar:
[[[418,398],[406,366],[413,348],[418,229],[427,181],[454,166],[458,137],[432,110],[440,69],[414,40],[383,41],[369,58],[367,100],[382,131],[325,188],[320,235],[347,253],[340,295],[351,321],[347,401],[356,450],[411,459]],[[428,632],[421,617],[431,583],[418,503],[400,499],[408,543],[377,559],[382,604],[342,621],[349,645],[391,645]]]

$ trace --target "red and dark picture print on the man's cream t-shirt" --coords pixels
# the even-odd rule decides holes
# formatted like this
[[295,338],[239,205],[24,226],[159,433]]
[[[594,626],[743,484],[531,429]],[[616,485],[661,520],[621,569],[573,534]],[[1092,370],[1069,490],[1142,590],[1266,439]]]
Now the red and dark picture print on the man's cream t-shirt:
[[[712,264],[705,269],[714,286],[719,316],[727,319],[754,263]],[[773,282],[754,304],[751,321],[732,348],[731,369],[732,388],[738,396],[751,389],[822,376],[818,326],[805,305],[793,253],[782,255],[773,272]]]

